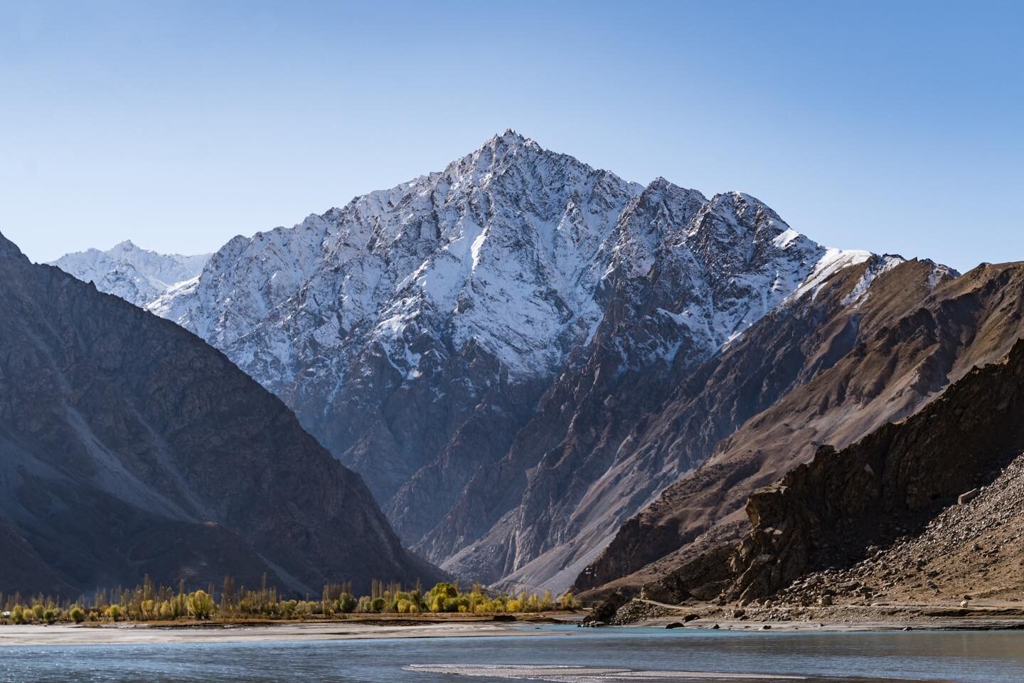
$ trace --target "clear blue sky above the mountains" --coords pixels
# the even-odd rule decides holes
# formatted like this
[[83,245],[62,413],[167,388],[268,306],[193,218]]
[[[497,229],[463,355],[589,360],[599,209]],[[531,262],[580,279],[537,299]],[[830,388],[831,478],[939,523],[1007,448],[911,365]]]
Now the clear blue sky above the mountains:
[[0,231],[212,251],[512,127],[825,244],[1024,259],[1022,7],[0,0]]

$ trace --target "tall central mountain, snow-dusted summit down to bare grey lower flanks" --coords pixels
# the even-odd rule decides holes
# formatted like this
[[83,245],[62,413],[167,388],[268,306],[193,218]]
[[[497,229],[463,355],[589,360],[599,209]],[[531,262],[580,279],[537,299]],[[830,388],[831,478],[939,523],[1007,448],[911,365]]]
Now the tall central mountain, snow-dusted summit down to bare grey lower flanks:
[[869,256],[746,195],[642,187],[507,131],[236,238],[150,309],[282,397],[429,558],[558,588],[707,455],[637,465],[635,421]]

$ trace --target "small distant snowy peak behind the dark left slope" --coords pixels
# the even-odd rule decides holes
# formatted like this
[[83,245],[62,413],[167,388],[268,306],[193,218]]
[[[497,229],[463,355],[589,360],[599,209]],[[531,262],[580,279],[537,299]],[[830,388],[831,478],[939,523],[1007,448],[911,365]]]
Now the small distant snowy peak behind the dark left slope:
[[125,241],[106,251],[89,249],[65,254],[50,265],[83,283],[95,283],[100,292],[145,306],[171,286],[199,275],[209,259],[210,254],[158,254]]

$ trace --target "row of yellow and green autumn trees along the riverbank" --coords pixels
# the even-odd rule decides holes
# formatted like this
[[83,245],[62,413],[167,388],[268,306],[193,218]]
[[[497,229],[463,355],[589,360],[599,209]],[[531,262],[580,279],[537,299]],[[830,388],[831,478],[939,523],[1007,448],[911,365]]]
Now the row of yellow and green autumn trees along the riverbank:
[[547,591],[543,595],[525,592],[494,595],[474,584],[462,591],[457,583],[437,584],[424,592],[417,584],[404,589],[399,584],[373,582],[369,595],[355,597],[351,584],[328,584],[319,600],[284,598],[276,588],[266,585],[266,577],[258,589],[237,586],[226,577],[219,595],[212,586],[207,590],[188,592],[184,582],[176,589],[155,586],[146,577],[133,589],[97,591],[91,601],[85,596],[75,602],[44,596],[23,598],[14,594],[4,599],[0,623],[55,624],[83,622],[157,622],[188,620],[329,620],[344,614],[423,614],[464,613],[502,614],[542,612],[554,609],[575,609],[579,603],[571,594],[557,599]]

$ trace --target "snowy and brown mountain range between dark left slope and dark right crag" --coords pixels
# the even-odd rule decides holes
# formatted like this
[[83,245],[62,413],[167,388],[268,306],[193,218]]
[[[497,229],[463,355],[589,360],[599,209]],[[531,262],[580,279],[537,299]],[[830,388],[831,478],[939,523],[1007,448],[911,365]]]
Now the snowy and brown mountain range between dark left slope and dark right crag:
[[57,264],[280,397],[401,543],[456,577],[592,597],[687,595],[750,532],[755,492],[1024,332],[1017,264],[827,248],[749,195],[639,185],[511,130],[168,257],[180,278],[112,252]]

